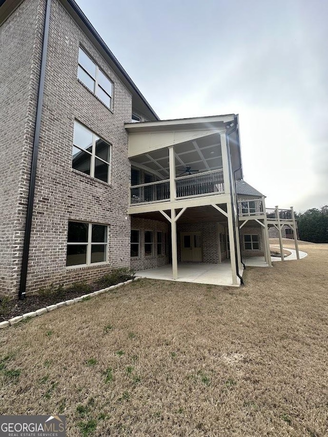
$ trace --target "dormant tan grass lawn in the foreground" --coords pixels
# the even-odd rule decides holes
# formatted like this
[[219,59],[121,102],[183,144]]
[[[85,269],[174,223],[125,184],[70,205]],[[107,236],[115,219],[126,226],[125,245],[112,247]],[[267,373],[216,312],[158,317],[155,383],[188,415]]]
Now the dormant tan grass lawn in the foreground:
[[68,436],[328,435],[328,245],[300,249],[242,288],[141,280],[0,331],[1,413],[66,414]]

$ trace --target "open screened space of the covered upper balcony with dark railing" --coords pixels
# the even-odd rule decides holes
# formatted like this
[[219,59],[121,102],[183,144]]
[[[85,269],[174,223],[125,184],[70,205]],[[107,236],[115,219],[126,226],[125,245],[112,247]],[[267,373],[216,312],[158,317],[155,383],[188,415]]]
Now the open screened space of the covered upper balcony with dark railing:
[[[224,193],[219,135],[204,136],[174,147],[174,199]],[[130,205],[171,199],[168,149],[131,158]]]

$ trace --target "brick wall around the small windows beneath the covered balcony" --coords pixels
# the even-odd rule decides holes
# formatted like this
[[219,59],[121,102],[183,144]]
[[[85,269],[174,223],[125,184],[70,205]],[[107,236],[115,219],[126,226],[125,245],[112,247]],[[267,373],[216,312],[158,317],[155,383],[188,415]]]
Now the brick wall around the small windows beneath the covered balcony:
[[[168,236],[169,225],[166,222],[158,220],[148,220],[132,217],[131,229],[139,231],[140,246],[139,257],[131,258],[131,268],[133,270],[142,270],[145,268],[155,268],[169,263],[168,251],[163,244],[163,254],[157,255],[157,232],[166,233]],[[145,231],[153,231],[153,255],[145,256]],[[168,237],[167,237],[168,241]],[[130,246],[129,246],[130,249]]]

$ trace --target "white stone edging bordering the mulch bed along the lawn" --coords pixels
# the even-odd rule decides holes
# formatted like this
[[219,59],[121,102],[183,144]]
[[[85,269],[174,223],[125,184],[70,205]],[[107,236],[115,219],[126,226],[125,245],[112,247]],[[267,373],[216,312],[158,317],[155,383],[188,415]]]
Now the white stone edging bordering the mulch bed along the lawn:
[[82,302],[86,298],[92,298],[94,296],[101,295],[101,294],[106,293],[106,292],[113,290],[115,288],[119,288],[119,287],[122,287],[124,285],[130,284],[133,281],[138,281],[139,279],[141,279],[140,276],[135,276],[133,279],[129,279],[128,281],[125,281],[125,282],[120,282],[116,285],[111,285],[110,287],[107,287],[107,288],[102,288],[101,290],[97,290],[96,292],[89,293],[87,295],[83,295],[83,296],[80,296],[80,297],[75,298],[75,299],[69,299],[66,301],[58,302],[55,305],[48,305],[44,308],[39,308],[39,309],[36,309],[35,311],[31,311],[30,313],[23,314],[22,316],[12,317],[9,320],[5,320],[4,322],[0,322],[0,329],[15,325],[16,323],[22,322],[23,320],[26,320],[26,319],[31,319],[31,318],[36,317],[36,316],[42,316],[43,314],[50,313],[50,311],[54,311],[55,309],[58,309],[61,306],[73,305],[77,302]]

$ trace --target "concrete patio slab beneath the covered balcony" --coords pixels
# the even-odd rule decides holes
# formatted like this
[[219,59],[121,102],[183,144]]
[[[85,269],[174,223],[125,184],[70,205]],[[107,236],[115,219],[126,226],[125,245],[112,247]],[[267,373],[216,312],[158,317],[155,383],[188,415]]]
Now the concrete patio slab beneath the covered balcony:
[[[148,268],[139,270],[135,273],[136,276],[151,279],[172,279],[172,264],[166,264],[162,267]],[[240,272],[242,275],[242,271]],[[197,284],[213,284],[213,285],[230,285],[239,286],[240,279],[237,278],[238,285],[232,284],[231,264],[229,260],[223,261],[221,264],[205,264],[205,263],[179,263],[178,264],[178,279],[181,282],[195,282]]]

